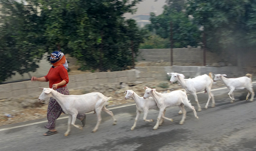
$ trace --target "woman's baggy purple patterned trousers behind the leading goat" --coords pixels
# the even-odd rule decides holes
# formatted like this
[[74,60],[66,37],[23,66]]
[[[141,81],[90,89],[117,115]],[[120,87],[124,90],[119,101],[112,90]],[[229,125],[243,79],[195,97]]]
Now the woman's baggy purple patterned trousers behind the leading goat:
[[[57,92],[69,95],[69,91],[67,86],[56,89]],[[63,112],[61,106],[59,103],[54,99],[50,98],[50,102],[47,109],[47,120],[48,123],[44,126],[46,129],[54,130],[55,129],[55,123],[57,118],[61,115]],[[64,112],[63,112],[64,113]],[[77,114],[76,118],[78,119],[84,119],[85,114]]]

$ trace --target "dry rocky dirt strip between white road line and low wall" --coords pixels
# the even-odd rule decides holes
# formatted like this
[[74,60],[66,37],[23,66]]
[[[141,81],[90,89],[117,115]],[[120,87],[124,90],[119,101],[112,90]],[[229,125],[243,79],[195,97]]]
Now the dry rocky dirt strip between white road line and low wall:
[[[134,85],[134,86],[129,86],[129,84],[127,83],[126,86],[123,86],[125,88],[122,88],[122,89],[117,88],[117,87],[120,87],[121,85],[111,86],[111,88],[109,88],[109,87],[105,88],[104,92],[102,92],[102,93],[106,96],[111,96],[113,98],[112,100],[110,100],[108,102],[107,106],[114,107],[119,104],[134,102],[134,100],[132,100],[132,99],[128,99],[128,100],[124,99],[125,90],[133,90],[139,96],[143,96],[145,89],[142,89],[142,88],[144,88],[145,86],[150,87],[150,88],[156,88],[156,90],[158,92],[167,92],[168,89],[170,91],[181,89],[181,86],[179,84],[170,84],[166,81],[165,82],[160,82],[160,81],[143,82],[140,84],[132,84],[131,83],[130,85]],[[218,82],[213,85],[212,89],[222,87],[222,86],[224,86],[224,85],[222,83]],[[98,92],[99,88],[92,86],[89,89],[91,89],[90,92]],[[69,90],[69,91],[70,91],[70,94],[81,95],[81,94],[88,93],[88,88],[87,89],[78,89],[78,90]],[[108,91],[110,91],[110,92],[108,92]],[[34,99],[36,99],[36,98],[34,98]],[[207,99],[206,94],[205,94],[205,99]],[[47,113],[47,104],[42,104],[42,103],[36,102],[35,104],[33,104],[33,106],[25,108],[25,109],[15,110],[15,111],[13,110],[9,113],[2,113],[0,116],[0,126],[10,124],[10,123],[18,123],[18,122],[29,121],[29,120],[39,119],[39,118],[45,118],[46,113]],[[10,114],[13,117],[12,118],[6,117],[5,114]]]

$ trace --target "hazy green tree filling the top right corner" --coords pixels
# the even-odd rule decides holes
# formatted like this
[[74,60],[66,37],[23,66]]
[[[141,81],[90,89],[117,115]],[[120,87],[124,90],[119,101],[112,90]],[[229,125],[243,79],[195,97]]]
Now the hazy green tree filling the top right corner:
[[256,46],[256,1],[189,0],[186,13],[204,27],[211,51],[239,52]]

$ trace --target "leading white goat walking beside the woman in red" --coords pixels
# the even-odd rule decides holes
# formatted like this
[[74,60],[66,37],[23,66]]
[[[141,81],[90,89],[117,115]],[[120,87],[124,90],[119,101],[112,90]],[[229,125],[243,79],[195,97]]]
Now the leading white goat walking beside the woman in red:
[[78,129],[83,129],[81,126],[75,125],[75,119],[78,113],[89,113],[91,111],[96,112],[98,120],[95,128],[93,129],[93,132],[98,130],[99,124],[101,122],[101,110],[112,116],[114,120],[113,125],[115,125],[117,122],[114,114],[107,110],[105,107],[107,101],[110,98],[105,97],[99,92],[93,92],[84,95],[63,95],[50,88],[40,89],[42,89],[43,92],[39,96],[39,100],[47,100],[50,97],[53,97],[60,104],[62,110],[69,115],[68,129],[64,136],[69,135],[71,124]]

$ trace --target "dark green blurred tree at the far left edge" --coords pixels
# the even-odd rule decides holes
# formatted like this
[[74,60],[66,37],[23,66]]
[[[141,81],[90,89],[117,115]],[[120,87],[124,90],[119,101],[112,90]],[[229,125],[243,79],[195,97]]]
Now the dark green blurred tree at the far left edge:
[[35,71],[46,49],[42,20],[33,3],[2,0],[1,5],[0,83],[16,72]]

